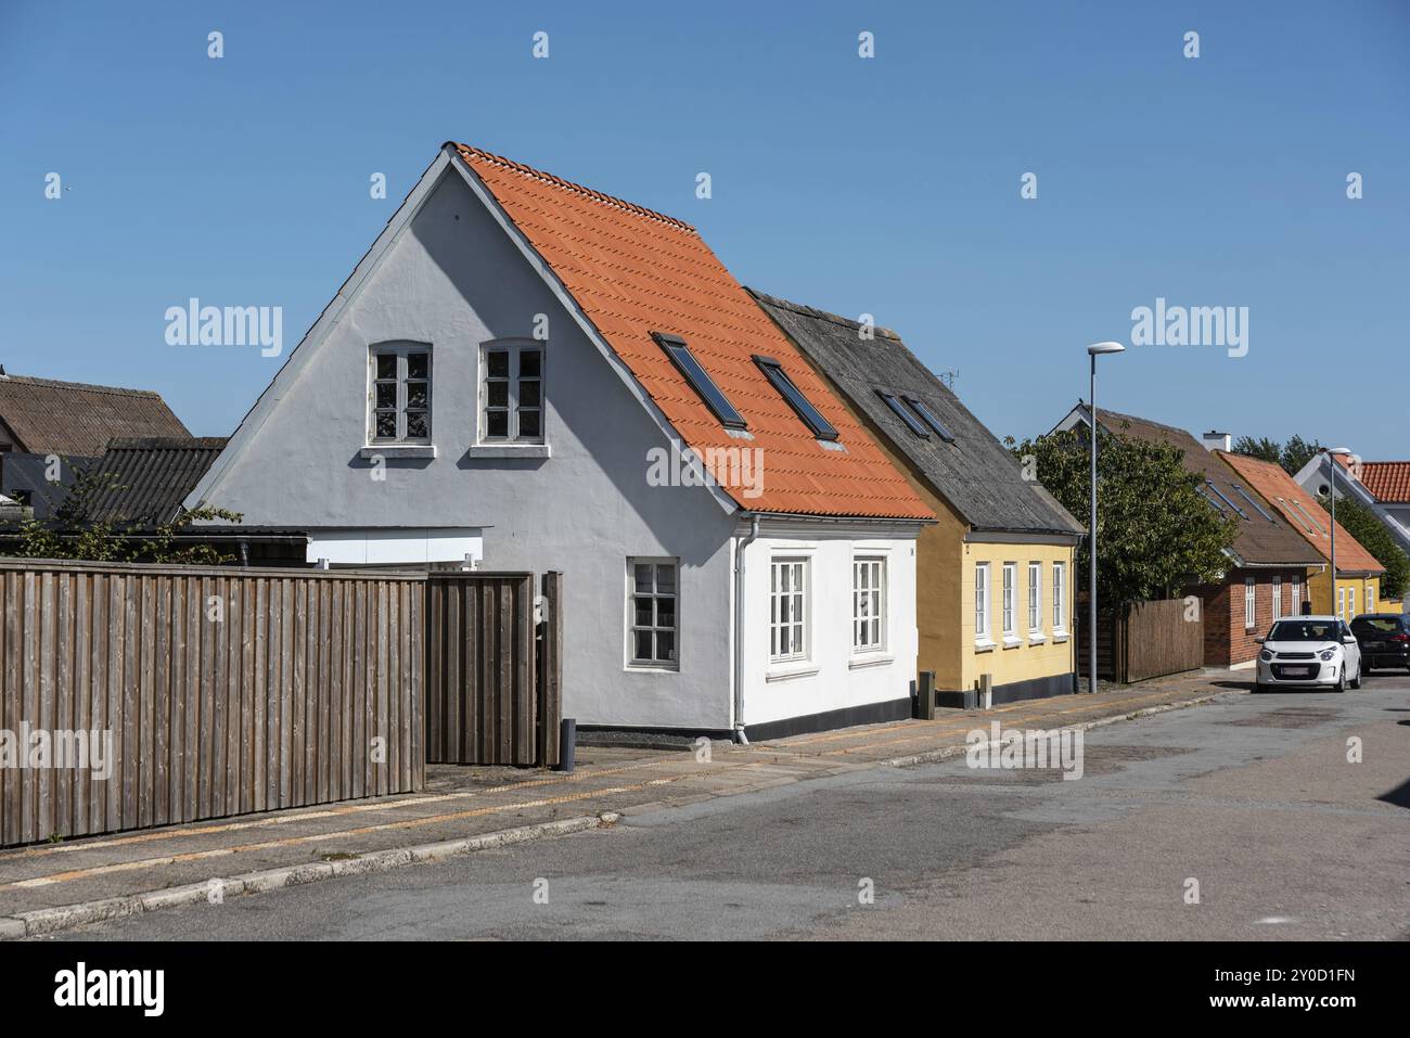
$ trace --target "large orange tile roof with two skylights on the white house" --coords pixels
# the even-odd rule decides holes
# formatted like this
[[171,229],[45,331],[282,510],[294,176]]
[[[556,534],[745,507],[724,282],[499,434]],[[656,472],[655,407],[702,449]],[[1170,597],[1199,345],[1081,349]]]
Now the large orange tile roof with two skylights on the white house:
[[[749,511],[931,519],[933,513],[687,223],[530,169],[465,144],[460,157],[568,289],[588,320],[697,454],[759,447],[763,492]],[[684,338],[749,423],[729,436],[651,338]],[[753,355],[783,362],[794,384],[836,427],[846,453],[821,446]],[[643,472],[646,461],[643,460]]]

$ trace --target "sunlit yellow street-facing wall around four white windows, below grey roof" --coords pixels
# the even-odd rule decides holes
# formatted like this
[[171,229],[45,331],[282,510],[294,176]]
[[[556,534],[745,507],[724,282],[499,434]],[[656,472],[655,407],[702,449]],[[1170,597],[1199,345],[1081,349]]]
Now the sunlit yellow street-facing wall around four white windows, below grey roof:
[[[993,649],[977,646],[974,636],[974,573],[988,563],[990,640]],[[1014,629],[1017,643],[1004,635],[1004,563],[1017,563],[1014,574]],[[1029,630],[1028,564],[1041,564],[1038,597],[1038,635]],[[1053,632],[1053,563],[1063,563],[1066,588],[1063,602],[1065,630]],[[1070,674],[1076,664],[1073,636],[1073,549],[1066,544],[969,543],[964,546],[964,584],[962,588],[960,649],[963,671],[960,688],[973,688],[980,674],[993,674],[994,687],[1053,674]]]

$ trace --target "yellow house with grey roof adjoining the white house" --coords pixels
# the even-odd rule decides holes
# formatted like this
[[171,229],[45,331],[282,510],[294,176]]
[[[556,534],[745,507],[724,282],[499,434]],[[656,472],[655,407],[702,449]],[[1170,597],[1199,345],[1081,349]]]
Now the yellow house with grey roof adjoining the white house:
[[940,705],[984,676],[994,702],[1074,690],[1083,526],[898,336],[754,292],[939,516],[916,544],[921,671]]

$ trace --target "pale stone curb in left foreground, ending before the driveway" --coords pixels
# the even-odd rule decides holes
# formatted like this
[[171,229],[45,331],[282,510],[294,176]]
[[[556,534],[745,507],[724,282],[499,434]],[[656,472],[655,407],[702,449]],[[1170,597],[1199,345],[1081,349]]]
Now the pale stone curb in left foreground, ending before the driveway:
[[[166,887],[165,890],[149,890],[141,894],[125,897],[109,897],[99,901],[80,901],[78,904],[56,905],[54,908],[35,908],[28,912],[0,917],[0,941],[18,941],[25,936],[44,936],[58,934],[75,927],[85,927],[90,922],[103,922],[124,915],[141,915],[142,912],[161,911],[190,904],[221,904],[227,897],[241,894],[262,894],[281,887],[298,887],[305,883],[319,883],[321,880],[338,879],[343,876],[362,876],[374,872],[386,872],[403,865],[417,865],[424,862],[439,862],[457,855],[468,855],[477,850],[491,850],[495,848],[512,846],[515,843],[529,843],[537,839],[553,836],[567,836],[574,832],[596,829],[603,825],[613,825],[620,815],[615,811],[603,811],[599,815],[580,815],[577,818],[560,818],[553,822],[537,825],[520,825],[513,829],[499,829],[484,832],[477,836],[448,839],[439,843],[422,843],[413,848],[393,848],[391,850],[374,850],[357,857],[337,862],[309,862],[306,865],[286,865],[279,869],[262,869],[244,873],[241,876],[214,877],[204,883],[188,883],[180,887]],[[219,891],[219,893],[217,893]]]

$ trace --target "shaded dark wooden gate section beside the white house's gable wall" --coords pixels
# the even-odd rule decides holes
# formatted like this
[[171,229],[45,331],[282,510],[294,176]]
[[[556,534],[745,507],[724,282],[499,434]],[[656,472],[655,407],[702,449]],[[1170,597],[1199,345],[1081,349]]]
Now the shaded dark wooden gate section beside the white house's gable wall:
[[426,762],[558,763],[563,574],[430,573]]

